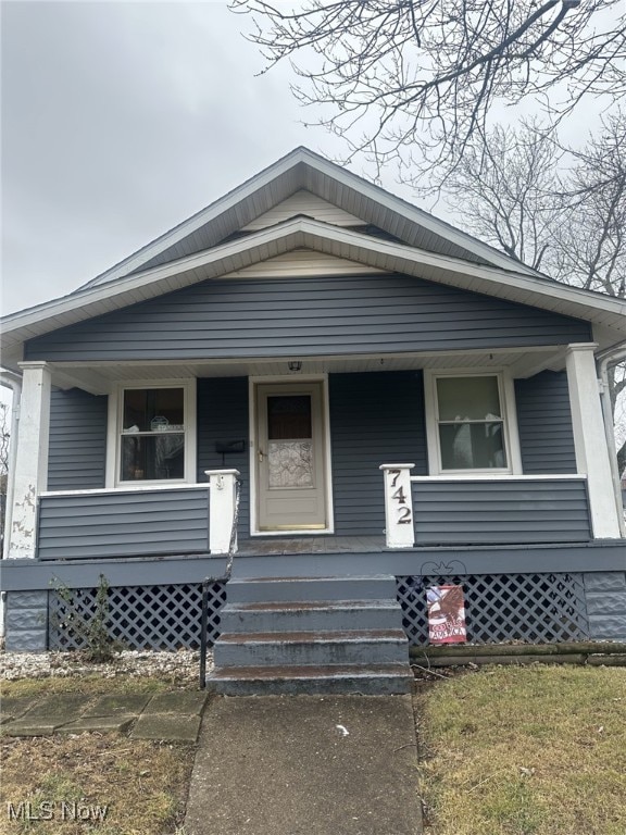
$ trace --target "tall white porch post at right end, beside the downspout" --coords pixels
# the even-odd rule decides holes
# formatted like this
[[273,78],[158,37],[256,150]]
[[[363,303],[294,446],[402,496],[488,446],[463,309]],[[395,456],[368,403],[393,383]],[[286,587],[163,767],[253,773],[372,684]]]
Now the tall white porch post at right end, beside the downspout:
[[587,475],[593,537],[616,539],[621,536],[621,529],[600,406],[600,387],[593,358],[596,347],[596,344],[590,342],[567,348],[567,384],[576,466],[579,473]]

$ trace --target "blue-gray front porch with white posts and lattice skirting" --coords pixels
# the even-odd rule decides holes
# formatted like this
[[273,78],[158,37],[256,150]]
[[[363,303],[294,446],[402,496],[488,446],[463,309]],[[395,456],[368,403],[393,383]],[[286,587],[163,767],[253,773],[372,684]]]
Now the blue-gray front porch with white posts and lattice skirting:
[[[120,637],[129,646],[170,648],[197,645],[201,583],[216,578],[211,613],[216,639],[228,595],[221,577],[234,516],[228,479],[235,471],[242,482],[236,578],[396,577],[403,626],[416,645],[427,635],[424,587],[446,579],[464,587],[474,643],[626,637],[624,540],[611,478],[602,477],[610,470],[599,403],[586,394],[596,385],[592,349],[573,347],[566,371],[535,375],[554,359],[552,349],[497,356],[498,372],[478,364],[485,358],[477,354],[464,360],[472,371],[453,372],[461,359],[439,354],[397,358],[404,367],[392,371],[376,371],[374,361],[362,370],[364,361],[328,360],[328,371],[304,375],[322,392],[323,533],[315,526],[298,533],[260,529],[260,436],[252,424],[265,377],[259,387],[258,377],[243,374],[181,385],[172,370],[165,378],[155,367],[158,383],[145,389],[130,384],[130,390],[185,391],[184,420],[173,418],[165,432],[161,422],[155,428],[125,427],[120,419],[125,384],[111,383],[115,390],[104,398],[78,389],[48,392],[48,461],[28,459],[33,447],[22,449],[22,472],[33,477],[16,482],[14,559],[2,566],[15,648],[20,641],[39,649],[75,646],[71,632],[51,628],[63,622],[65,610],[50,584],[75,590],[87,614],[100,575],[110,585]],[[28,410],[23,408],[39,415],[39,424],[26,424],[25,437],[30,432],[40,439],[48,432],[41,419],[50,406],[47,386],[62,372],[48,363],[27,365]],[[445,432],[438,436],[436,411],[425,400],[428,390],[431,401],[437,395],[435,366],[446,379],[493,383],[500,415],[484,410],[476,452],[490,469],[445,472],[447,453],[438,440]],[[514,369],[530,376],[514,378]],[[235,370],[260,366],[222,371]],[[202,373],[210,371],[216,367],[202,366]],[[118,374],[113,367],[107,373]],[[300,396],[292,376],[276,378]],[[473,432],[468,421],[448,423],[456,438]],[[135,481],[120,481],[126,438],[148,438],[154,448],[167,433],[183,432],[187,483],[151,484],[137,475],[145,474],[142,468],[129,470]],[[493,436],[498,443],[486,445]],[[462,454],[470,449],[466,440]],[[596,458],[594,450],[600,450]],[[414,463],[397,463],[406,460]],[[224,469],[205,470],[220,465]],[[49,489],[37,487],[46,477]],[[226,486],[220,485],[224,477]]]

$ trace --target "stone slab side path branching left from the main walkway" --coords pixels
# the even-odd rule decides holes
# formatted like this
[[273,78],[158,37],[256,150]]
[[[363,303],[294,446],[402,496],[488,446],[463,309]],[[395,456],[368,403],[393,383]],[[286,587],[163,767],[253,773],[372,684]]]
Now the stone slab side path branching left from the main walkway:
[[155,696],[9,696],[2,699],[0,722],[9,736],[129,731],[132,739],[195,743],[206,698],[205,693],[185,690]]

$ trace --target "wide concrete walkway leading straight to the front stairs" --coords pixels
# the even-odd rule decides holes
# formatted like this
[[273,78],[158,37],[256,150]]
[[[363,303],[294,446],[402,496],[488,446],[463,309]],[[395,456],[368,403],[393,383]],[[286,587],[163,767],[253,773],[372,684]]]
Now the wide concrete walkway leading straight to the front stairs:
[[186,835],[417,835],[410,696],[221,697],[204,712]]

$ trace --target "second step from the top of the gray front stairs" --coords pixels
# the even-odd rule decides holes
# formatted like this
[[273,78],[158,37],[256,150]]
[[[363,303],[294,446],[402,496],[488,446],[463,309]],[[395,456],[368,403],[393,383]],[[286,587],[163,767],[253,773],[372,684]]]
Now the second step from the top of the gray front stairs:
[[402,610],[396,600],[228,602],[220,623],[225,633],[393,630],[402,626]]

